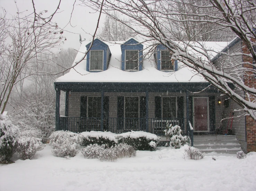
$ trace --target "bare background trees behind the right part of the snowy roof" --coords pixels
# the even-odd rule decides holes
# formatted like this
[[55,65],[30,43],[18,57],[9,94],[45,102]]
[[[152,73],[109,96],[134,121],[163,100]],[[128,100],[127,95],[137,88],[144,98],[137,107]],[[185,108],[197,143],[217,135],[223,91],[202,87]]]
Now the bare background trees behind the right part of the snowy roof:
[[[211,13],[214,8],[205,0],[174,0],[170,2],[178,14],[173,15],[175,20],[169,23],[169,29],[175,34],[173,39],[188,41],[227,41],[232,39],[230,28],[223,27],[217,23],[202,22],[209,19],[203,15]],[[210,6],[209,6],[210,5]],[[187,14],[191,13],[191,14]]]

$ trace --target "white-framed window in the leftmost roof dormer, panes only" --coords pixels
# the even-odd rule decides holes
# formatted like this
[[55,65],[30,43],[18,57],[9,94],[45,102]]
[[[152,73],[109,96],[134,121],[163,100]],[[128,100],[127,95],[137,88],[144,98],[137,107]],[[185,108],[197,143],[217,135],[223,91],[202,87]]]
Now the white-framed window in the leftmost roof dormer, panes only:
[[103,70],[103,50],[90,50],[90,70]]

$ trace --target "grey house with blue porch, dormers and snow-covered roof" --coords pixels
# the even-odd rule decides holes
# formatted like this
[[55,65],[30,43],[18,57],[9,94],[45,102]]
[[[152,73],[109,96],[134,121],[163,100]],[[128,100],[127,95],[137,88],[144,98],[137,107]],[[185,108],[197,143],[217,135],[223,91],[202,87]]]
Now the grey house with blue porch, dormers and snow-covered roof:
[[[218,50],[227,46],[205,43]],[[215,134],[223,125],[223,113],[231,110],[231,101],[209,87],[200,74],[173,60],[164,46],[157,45],[152,56],[146,46],[133,38],[83,42],[74,64],[84,57],[82,52],[88,51],[87,57],[54,82],[56,130],[164,135],[169,121],[179,125],[192,144],[194,135]],[[65,92],[63,115],[61,92]]]

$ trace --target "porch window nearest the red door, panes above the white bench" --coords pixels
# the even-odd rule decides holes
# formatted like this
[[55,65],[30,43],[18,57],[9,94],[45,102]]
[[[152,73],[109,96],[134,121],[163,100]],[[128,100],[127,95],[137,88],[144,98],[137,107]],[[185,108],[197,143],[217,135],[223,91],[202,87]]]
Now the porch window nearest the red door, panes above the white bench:
[[162,97],[162,118],[176,118],[176,97]]

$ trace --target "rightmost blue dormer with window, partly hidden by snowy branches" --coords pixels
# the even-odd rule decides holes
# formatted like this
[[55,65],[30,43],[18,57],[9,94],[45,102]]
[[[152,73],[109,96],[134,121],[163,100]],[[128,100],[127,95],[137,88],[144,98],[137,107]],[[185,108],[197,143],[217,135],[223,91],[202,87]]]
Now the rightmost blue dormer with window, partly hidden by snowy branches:
[[164,72],[172,72],[178,70],[178,61],[171,59],[172,52],[164,45],[159,44],[154,53],[157,69]]

